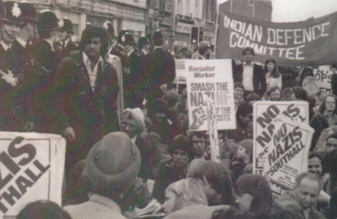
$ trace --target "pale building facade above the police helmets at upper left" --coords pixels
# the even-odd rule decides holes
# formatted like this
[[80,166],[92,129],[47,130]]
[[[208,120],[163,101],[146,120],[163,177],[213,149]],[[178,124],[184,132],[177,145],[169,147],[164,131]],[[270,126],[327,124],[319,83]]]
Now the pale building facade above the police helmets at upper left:
[[86,23],[102,26],[112,22],[115,34],[129,30],[137,39],[145,36],[148,17],[147,0],[32,0],[37,10],[50,9],[58,18],[73,22],[75,36],[80,37]]

